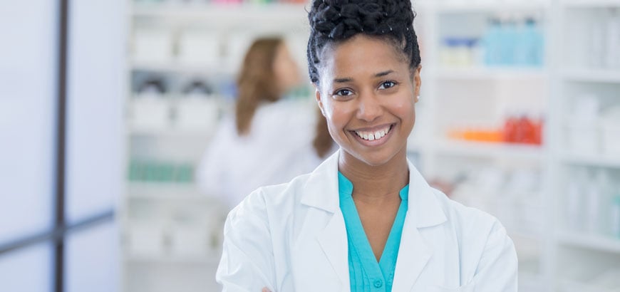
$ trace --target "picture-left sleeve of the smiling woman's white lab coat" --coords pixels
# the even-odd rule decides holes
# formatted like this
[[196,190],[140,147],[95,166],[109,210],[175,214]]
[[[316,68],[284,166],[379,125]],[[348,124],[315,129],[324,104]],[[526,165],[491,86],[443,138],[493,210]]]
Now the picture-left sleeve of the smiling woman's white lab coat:
[[277,292],[274,254],[264,195],[254,191],[234,208],[224,224],[222,259],[216,280],[223,291]]

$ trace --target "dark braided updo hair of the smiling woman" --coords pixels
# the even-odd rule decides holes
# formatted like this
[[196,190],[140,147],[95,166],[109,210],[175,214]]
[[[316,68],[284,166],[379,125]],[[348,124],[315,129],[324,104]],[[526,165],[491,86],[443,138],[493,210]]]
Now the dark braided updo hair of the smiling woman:
[[390,41],[409,61],[413,70],[420,65],[418,37],[413,30],[415,13],[411,0],[314,0],[308,19],[308,71],[312,83],[319,84],[321,50],[362,33]]

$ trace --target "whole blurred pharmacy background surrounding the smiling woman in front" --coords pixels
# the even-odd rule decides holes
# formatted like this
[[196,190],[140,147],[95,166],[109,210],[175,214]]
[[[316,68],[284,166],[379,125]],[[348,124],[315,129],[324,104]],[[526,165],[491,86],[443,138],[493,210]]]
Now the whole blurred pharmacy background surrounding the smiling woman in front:
[[[620,291],[620,0],[413,6],[410,160],[505,224],[520,291]],[[218,291],[223,221],[247,194],[231,189],[336,150],[306,7],[0,0],[0,290]],[[259,38],[278,41],[246,58]],[[252,68],[271,99],[252,98]]]

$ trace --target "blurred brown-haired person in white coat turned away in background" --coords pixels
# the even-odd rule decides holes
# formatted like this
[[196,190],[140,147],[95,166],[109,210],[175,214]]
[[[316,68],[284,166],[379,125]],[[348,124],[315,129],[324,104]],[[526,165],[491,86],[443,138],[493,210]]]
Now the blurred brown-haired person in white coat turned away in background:
[[333,152],[316,105],[282,99],[300,82],[281,38],[252,43],[237,78],[234,115],[223,118],[200,162],[202,192],[232,208],[258,187],[310,172]]

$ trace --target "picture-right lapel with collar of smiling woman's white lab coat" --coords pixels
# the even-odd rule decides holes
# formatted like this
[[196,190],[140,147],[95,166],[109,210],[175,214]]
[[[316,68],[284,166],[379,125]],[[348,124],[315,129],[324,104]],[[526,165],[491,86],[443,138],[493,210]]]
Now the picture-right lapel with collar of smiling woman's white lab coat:
[[443,209],[422,175],[409,162],[409,204],[396,259],[392,291],[411,291],[433,255],[420,229],[443,224]]

